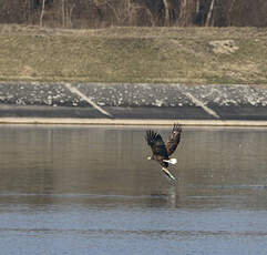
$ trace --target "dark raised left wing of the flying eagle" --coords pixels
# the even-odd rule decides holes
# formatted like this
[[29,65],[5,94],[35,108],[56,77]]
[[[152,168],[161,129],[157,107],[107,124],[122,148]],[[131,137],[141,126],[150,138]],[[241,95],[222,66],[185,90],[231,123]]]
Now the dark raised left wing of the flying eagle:
[[153,130],[146,131],[145,140],[151,146],[152,152],[155,156],[161,156],[162,159],[168,159],[167,149],[162,140],[161,134],[154,132]]

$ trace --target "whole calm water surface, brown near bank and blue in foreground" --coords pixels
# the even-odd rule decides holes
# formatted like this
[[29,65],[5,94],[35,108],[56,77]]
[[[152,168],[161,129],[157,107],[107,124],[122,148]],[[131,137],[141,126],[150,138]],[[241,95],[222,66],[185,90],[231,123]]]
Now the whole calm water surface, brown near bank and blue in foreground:
[[1,254],[266,255],[267,129],[184,129],[176,186],[144,132],[0,125]]

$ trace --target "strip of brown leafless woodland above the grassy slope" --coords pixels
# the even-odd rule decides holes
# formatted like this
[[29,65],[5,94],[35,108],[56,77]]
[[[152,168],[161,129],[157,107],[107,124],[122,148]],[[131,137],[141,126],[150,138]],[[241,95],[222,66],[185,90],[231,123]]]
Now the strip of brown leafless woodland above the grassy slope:
[[267,26],[267,0],[0,0],[0,22],[63,28]]

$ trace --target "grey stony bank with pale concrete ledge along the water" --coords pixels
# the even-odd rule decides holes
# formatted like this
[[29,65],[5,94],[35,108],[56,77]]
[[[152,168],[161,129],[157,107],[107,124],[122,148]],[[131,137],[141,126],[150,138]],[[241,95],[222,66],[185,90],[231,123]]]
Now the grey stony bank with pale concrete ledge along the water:
[[257,85],[0,82],[0,123],[267,126]]

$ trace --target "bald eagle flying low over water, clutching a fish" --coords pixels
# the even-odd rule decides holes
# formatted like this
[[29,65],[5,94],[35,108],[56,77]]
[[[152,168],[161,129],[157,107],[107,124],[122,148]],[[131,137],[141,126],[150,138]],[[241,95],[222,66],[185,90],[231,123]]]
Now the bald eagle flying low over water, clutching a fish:
[[168,164],[177,163],[176,159],[170,159],[170,156],[174,153],[174,151],[176,150],[176,147],[179,143],[181,133],[182,133],[181,125],[174,123],[167,145],[164,144],[161,134],[158,134],[157,132],[155,132],[153,130],[147,130],[146,136],[145,136],[145,140],[146,140],[147,144],[151,146],[152,153],[153,153],[153,155],[148,156],[147,160],[157,161],[160,163],[160,165],[162,166],[162,171],[172,181],[176,181],[176,180],[170,173],[167,167],[168,167]]

